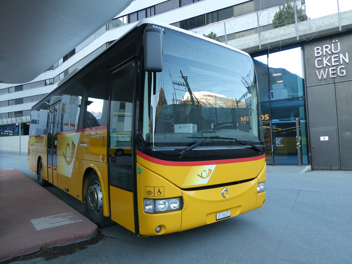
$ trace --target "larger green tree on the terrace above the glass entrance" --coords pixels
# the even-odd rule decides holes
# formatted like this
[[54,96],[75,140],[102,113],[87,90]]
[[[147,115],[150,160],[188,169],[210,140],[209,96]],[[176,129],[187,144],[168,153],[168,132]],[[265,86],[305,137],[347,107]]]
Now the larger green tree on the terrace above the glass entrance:
[[[297,22],[308,20],[308,17],[303,13],[302,8],[298,8],[296,6],[296,13]],[[275,13],[274,19],[272,20],[272,27],[276,29],[278,27],[283,27],[290,24],[295,24],[295,10],[294,6],[287,0],[287,4],[282,5],[282,8],[279,6],[279,11]]]

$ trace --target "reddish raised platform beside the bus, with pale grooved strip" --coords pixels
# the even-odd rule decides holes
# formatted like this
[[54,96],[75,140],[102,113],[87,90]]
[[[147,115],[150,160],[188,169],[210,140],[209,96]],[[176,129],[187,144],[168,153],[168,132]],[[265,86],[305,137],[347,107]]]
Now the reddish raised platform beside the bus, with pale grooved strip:
[[18,170],[0,170],[0,201],[0,261],[98,233],[93,222]]

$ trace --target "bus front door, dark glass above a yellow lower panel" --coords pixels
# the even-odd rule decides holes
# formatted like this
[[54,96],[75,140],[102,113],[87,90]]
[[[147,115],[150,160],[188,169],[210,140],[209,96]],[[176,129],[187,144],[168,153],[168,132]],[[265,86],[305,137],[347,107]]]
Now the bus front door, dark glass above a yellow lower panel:
[[135,64],[115,70],[110,81],[109,164],[111,219],[135,232],[133,203],[133,91]]

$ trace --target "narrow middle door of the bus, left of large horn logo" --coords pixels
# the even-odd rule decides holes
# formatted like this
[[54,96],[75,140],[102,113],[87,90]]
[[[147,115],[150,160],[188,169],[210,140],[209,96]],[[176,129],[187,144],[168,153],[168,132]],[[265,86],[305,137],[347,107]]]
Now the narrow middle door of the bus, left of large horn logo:
[[56,102],[50,106],[49,131],[48,131],[48,182],[57,186],[57,132],[59,122],[59,105]]

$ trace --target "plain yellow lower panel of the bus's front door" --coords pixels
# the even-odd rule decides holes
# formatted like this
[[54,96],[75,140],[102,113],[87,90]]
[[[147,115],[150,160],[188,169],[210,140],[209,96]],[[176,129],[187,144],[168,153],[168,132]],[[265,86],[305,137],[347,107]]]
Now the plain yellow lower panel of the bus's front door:
[[111,219],[134,233],[133,193],[110,186]]

